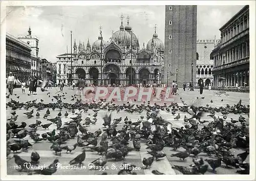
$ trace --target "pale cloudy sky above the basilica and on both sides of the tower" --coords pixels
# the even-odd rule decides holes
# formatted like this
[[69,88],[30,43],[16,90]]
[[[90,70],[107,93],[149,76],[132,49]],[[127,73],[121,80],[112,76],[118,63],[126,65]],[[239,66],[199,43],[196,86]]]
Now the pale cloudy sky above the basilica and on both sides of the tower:
[[[244,6],[198,6],[197,39],[220,38],[219,29]],[[99,27],[108,41],[112,31],[119,30],[120,16],[123,25],[130,17],[130,26],[139,38],[140,48],[152,38],[154,26],[164,42],[164,6],[9,6],[6,9],[6,31],[14,36],[27,35],[31,27],[32,35],[39,39],[38,56],[56,62],[56,56],[70,53],[72,41],[90,44],[98,39]],[[72,44],[73,47],[73,44]],[[72,50],[73,51],[73,50]]]

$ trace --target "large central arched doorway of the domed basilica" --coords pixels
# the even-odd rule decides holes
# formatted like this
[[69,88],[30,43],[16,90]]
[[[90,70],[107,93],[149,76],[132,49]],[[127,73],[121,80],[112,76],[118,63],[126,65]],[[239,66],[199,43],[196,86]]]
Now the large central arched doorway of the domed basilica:
[[103,69],[104,84],[119,84],[120,67],[116,63],[106,64]]

